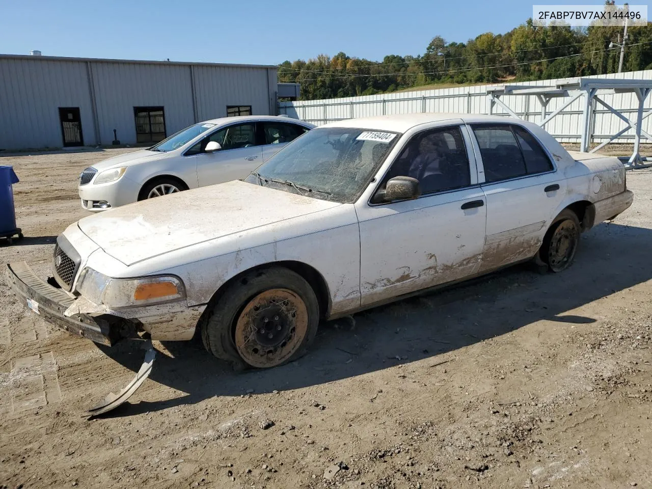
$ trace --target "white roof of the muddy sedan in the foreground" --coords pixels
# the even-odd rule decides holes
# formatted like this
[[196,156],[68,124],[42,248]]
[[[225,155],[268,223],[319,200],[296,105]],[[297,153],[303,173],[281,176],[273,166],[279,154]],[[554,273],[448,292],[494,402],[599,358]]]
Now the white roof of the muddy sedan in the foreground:
[[419,112],[393,115],[376,115],[374,117],[361,117],[359,119],[346,119],[325,124],[321,127],[359,127],[374,130],[386,130],[392,132],[406,132],[408,129],[421,124],[459,120],[466,123],[479,122],[523,122],[514,117],[505,117],[504,115],[481,115],[469,113],[439,113],[439,112]]

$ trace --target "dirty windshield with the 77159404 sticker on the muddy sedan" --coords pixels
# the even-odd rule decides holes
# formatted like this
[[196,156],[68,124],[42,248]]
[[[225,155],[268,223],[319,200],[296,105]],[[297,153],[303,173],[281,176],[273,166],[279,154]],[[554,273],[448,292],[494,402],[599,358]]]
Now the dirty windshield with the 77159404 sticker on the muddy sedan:
[[395,132],[316,128],[269,158],[246,181],[324,200],[353,202],[397,140]]

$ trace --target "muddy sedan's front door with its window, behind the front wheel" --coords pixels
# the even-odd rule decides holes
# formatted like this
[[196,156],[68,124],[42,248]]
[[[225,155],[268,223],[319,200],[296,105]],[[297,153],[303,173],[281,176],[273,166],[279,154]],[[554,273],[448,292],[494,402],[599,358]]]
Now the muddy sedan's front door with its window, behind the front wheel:
[[419,132],[406,143],[379,188],[392,177],[415,177],[421,197],[356,204],[363,305],[477,273],[486,205],[470,148],[464,126]]

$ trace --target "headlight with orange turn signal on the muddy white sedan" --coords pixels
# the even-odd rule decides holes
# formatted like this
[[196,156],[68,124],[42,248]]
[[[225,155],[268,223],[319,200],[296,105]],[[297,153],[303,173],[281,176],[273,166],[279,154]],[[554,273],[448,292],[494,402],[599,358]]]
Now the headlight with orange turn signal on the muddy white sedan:
[[82,270],[78,291],[96,304],[110,308],[145,306],[185,299],[186,289],[174,275],[111,278],[91,268]]

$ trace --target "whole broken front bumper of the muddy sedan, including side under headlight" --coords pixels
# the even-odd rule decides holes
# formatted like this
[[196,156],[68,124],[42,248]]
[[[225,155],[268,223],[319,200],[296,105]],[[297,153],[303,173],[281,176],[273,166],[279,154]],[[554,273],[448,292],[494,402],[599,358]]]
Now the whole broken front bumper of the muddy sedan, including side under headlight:
[[149,333],[152,340],[190,340],[205,309],[205,304],[168,303],[111,310],[51,286],[24,261],[9,263],[7,278],[22,303],[46,321],[106,346],[136,338],[138,333]]

